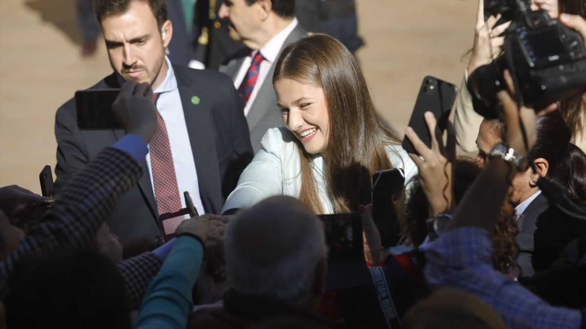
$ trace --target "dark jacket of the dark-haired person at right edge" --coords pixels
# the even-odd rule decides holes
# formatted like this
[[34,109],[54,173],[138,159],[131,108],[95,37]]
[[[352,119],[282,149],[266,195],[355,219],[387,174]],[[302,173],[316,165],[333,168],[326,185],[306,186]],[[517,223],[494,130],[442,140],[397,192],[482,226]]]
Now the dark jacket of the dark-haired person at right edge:
[[586,221],[568,217],[539,194],[519,216],[517,266],[522,276],[550,267],[572,240],[586,235]]

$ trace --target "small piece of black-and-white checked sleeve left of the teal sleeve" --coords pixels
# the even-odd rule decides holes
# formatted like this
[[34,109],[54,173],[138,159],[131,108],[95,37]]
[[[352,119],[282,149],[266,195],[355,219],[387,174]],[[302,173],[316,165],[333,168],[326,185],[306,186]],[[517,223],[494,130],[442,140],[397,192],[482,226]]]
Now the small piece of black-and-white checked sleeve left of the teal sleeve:
[[141,306],[149,282],[159,273],[162,265],[163,260],[152,252],[145,252],[118,264],[118,272],[124,277],[132,310]]

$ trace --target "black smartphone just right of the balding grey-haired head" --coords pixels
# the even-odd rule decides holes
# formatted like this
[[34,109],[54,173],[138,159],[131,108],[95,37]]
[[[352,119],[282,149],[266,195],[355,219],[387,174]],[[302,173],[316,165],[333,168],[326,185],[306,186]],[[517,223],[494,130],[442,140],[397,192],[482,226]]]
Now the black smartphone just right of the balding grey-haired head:
[[360,213],[318,215],[328,246],[328,260],[364,259]]

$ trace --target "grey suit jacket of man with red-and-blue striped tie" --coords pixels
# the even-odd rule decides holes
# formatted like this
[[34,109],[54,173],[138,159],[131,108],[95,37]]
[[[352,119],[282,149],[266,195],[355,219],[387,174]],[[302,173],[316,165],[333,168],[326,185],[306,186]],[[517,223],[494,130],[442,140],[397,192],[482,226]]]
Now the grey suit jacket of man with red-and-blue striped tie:
[[[295,42],[306,35],[307,32],[298,24],[285,39],[281,51],[289,43]],[[230,57],[226,65],[220,66],[220,71],[228,74],[232,79],[236,78],[244,59],[251,51],[248,48],[240,50]],[[270,128],[283,125],[281,111],[277,107],[277,95],[272,88],[272,74],[275,72],[275,64],[277,64],[276,60],[272,64],[271,70],[268,71],[267,77],[263,81],[260,90],[258,90],[258,94],[254,98],[254,102],[246,116],[248,129],[250,129],[250,141],[255,153],[260,149],[260,141],[263,139],[264,133]]]

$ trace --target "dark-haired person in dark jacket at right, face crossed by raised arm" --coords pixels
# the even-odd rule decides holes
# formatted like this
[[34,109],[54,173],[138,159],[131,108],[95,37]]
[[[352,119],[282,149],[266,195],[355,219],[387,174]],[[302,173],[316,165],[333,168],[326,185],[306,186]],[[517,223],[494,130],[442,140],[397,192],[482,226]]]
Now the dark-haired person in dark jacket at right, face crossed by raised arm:
[[[492,143],[481,145],[481,141],[502,142],[504,129],[498,121],[483,121],[477,139],[480,153],[490,153],[492,148]],[[527,154],[535,171],[529,168],[517,173],[510,190],[519,225],[517,265],[523,276],[548,268],[568,242],[586,235],[586,222],[559,211],[537,186],[539,177],[547,177],[560,185],[575,204],[586,207],[586,155],[570,143],[570,129],[560,111],[537,119],[536,135]]]

